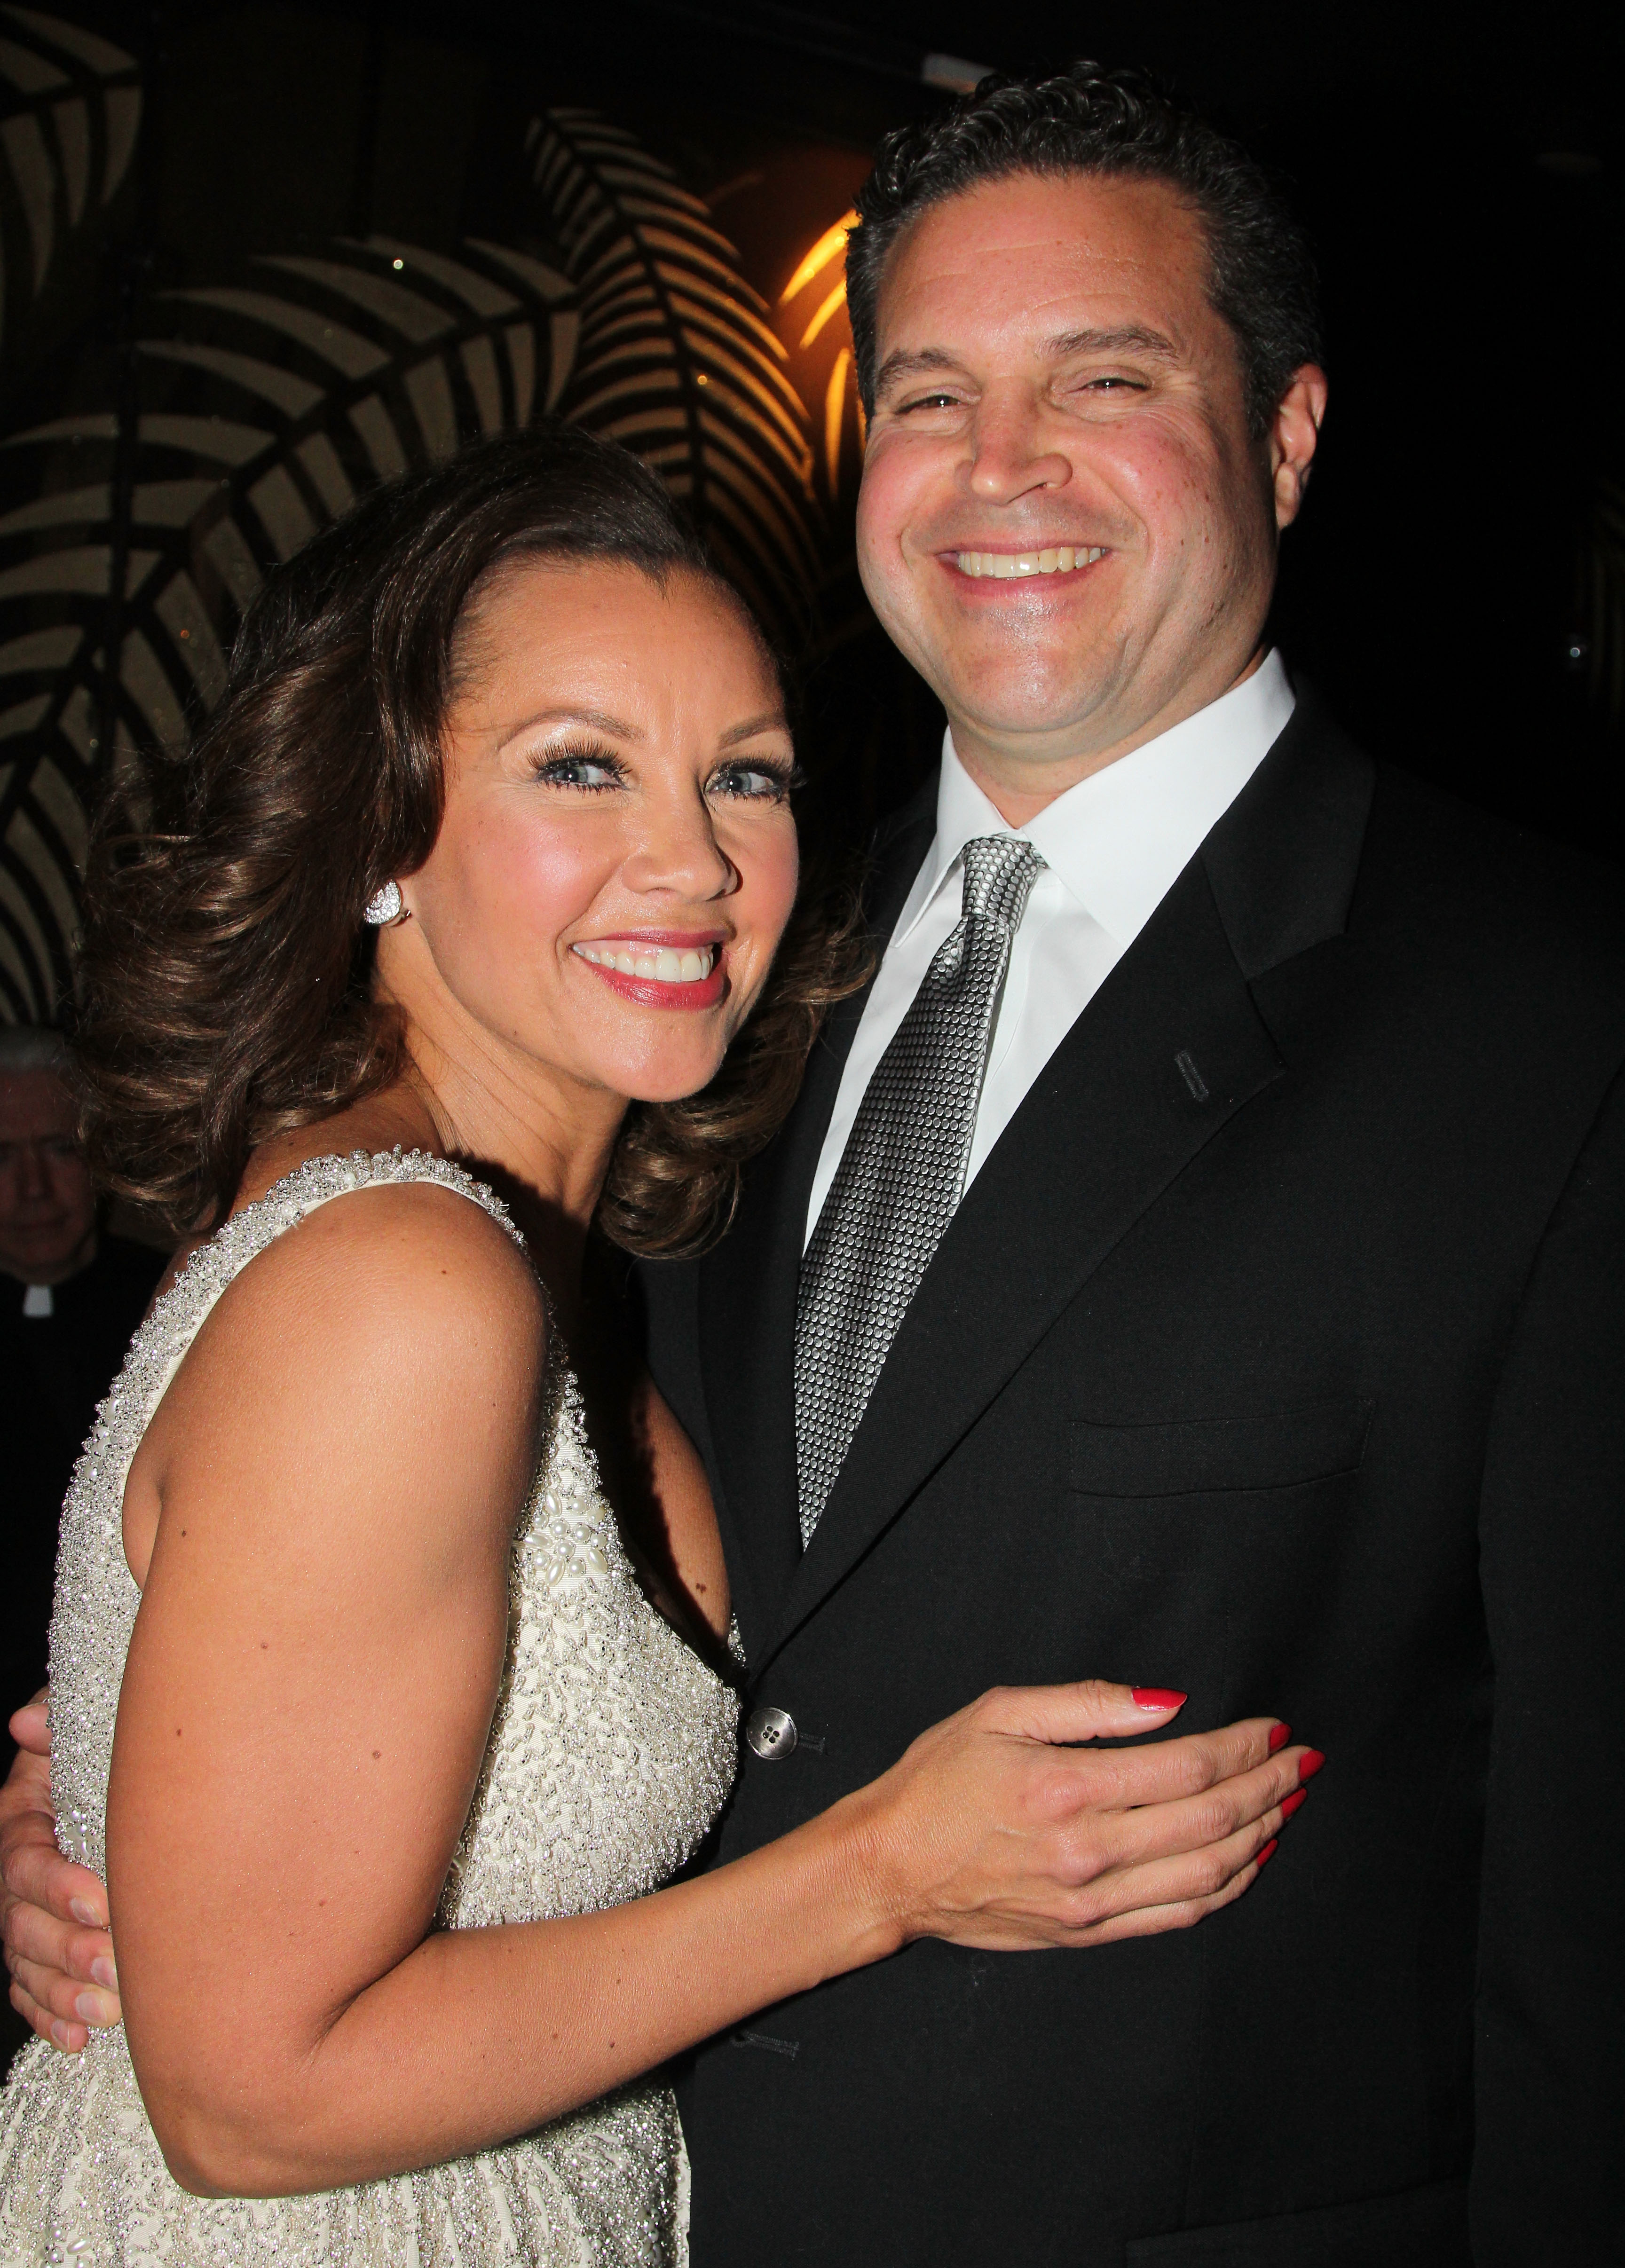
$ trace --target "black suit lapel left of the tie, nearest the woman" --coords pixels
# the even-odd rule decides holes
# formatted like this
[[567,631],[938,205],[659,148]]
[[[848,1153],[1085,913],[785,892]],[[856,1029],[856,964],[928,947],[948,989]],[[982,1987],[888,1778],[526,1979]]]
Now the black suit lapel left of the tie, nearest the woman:
[[[876,955],[903,909],[935,832],[935,782],[876,844],[867,891]],[[794,1334],[801,1243],[824,1134],[869,987],[842,1000],[808,1059],[794,1111],[744,1177],[733,1227],[701,1261],[699,1345],[719,1470],[717,1520],[738,1588],[749,1660],[799,1563]]]

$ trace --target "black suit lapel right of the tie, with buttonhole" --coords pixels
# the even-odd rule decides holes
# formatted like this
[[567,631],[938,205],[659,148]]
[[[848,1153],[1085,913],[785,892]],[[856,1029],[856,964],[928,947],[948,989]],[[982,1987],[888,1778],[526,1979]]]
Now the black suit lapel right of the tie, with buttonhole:
[[[1371,764],[1334,742],[1310,703],[971,1184],[792,1567],[772,1637],[760,1656],[751,1649],[753,1669],[899,1517],[1135,1220],[1282,1075],[1248,978],[1344,928],[1369,798]],[[783,1397],[790,1411],[788,1352]],[[785,1424],[794,1506],[792,1413]]]

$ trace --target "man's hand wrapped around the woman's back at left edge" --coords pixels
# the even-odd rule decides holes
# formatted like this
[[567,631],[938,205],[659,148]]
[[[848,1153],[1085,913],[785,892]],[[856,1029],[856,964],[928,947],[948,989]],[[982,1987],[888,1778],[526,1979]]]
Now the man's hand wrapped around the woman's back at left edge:
[[41,2039],[77,2055],[91,2025],[123,2014],[107,1892],[89,1867],[57,1851],[43,1690],[11,1719],[11,1740],[18,1755],[0,1787],[0,1935],[11,2007]]

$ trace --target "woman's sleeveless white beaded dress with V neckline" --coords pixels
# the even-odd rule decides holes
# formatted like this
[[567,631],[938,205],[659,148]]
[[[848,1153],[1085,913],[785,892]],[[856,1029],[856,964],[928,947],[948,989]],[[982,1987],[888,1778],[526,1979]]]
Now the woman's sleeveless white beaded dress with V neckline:
[[[499,1200],[443,1159],[311,1159],[193,1254],[98,1411],[64,1504],[50,1628],[57,1839],[98,1873],[141,1603],[123,1549],[129,1461],[231,1277],[318,1204],[377,1182],[438,1182],[517,1241]],[[733,1692],[638,1588],[556,1363],[515,1531],[502,1694],[440,1923],[581,1914],[656,1889],[722,1808],[735,1717]],[[170,2180],[123,2028],[77,2057],[32,2041],[0,2093],[0,2268],[670,2268],[688,2254],[685,2191],[658,2080],[477,2157],[270,2200],[191,2198]]]

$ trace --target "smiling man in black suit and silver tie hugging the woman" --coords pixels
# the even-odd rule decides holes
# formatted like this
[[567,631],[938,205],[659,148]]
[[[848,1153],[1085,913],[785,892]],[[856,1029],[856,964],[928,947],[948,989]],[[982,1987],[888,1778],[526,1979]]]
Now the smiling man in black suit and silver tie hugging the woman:
[[[749,1658],[722,1855],[1014,1678],[1330,1762],[1201,1928],[921,1944],[713,2043],[694,2263],[1614,2257],[1611,885],[1266,651],[1325,381],[1239,152],[1078,66],[860,211],[862,569],[949,739],[874,984],[722,1245],[645,1270]],[[93,1885],[25,1835],[7,1878],[89,1975]]]

